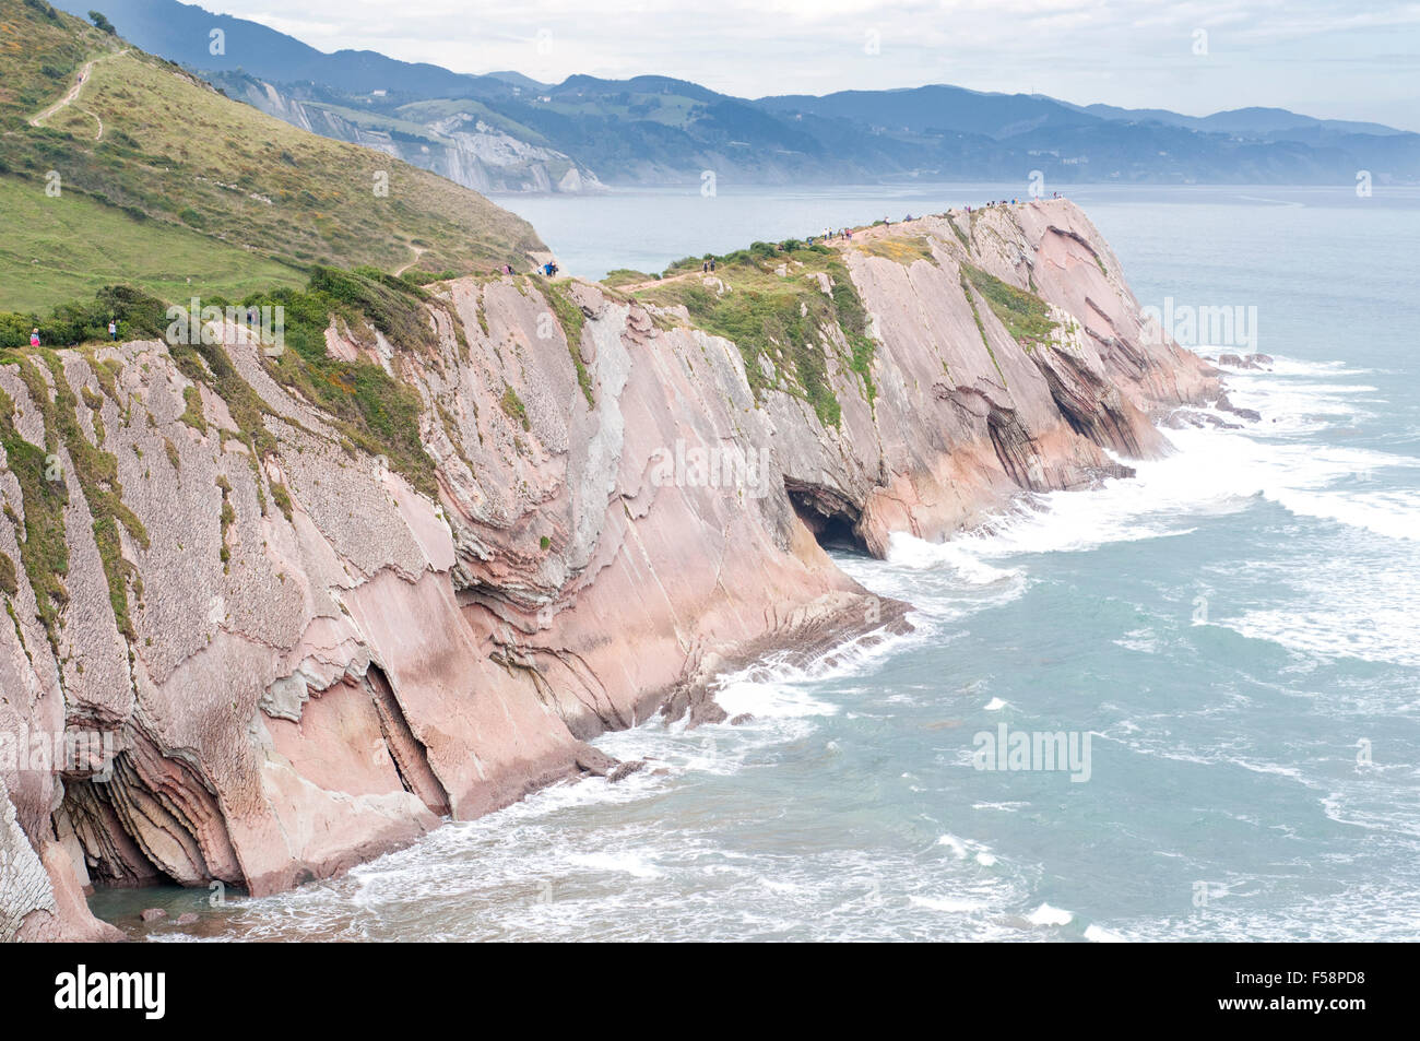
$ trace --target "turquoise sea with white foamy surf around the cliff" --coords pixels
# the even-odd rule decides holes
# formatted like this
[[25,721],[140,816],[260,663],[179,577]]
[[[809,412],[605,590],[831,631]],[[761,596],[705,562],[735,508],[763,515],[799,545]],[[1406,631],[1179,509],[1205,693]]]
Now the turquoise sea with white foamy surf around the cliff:
[[[595,277],[1011,193],[500,202]],[[1257,308],[1277,364],[1230,393],[1260,423],[1169,430],[1136,479],[946,545],[842,555],[914,633],[731,677],[746,726],[598,741],[666,773],[559,785],[200,932],[1420,939],[1420,193],[1071,196],[1143,304]],[[1088,736],[1088,780],[977,768],[1001,724]]]

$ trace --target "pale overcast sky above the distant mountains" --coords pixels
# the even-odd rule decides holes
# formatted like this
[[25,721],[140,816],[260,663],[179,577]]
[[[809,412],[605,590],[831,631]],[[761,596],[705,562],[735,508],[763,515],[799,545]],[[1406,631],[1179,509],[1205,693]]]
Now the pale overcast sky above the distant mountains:
[[1420,131],[1420,3],[1352,0],[199,0],[322,50],[727,94],[946,82],[1206,115],[1275,105]]

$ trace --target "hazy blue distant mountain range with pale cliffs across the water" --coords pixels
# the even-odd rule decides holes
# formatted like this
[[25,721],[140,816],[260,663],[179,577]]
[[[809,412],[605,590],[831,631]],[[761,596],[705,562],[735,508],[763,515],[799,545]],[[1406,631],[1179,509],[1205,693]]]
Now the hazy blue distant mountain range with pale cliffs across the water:
[[[373,51],[325,54],[178,0],[92,4],[121,36],[226,94],[479,190],[902,180],[1047,183],[1420,182],[1420,133],[1277,108],[1208,116],[932,85],[736,98],[667,77],[542,84]],[[220,31],[220,47],[214,33]],[[219,51],[219,53],[213,53]]]

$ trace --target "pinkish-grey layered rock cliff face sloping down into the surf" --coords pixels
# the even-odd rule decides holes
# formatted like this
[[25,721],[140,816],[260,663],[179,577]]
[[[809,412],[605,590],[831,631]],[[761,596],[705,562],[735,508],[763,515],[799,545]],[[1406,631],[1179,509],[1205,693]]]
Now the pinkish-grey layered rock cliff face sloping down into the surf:
[[[872,249],[900,240],[922,256]],[[0,936],[116,939],[91,886],[271,893],[605,774],[588,738],[657,712],[723,720],[713,679],[730,667],[909,625],[815,533],[875,554],[895,531],[947,538],[1015,496],[1127,473],[1120,460],[1169,449],[1163,413],[1218,395],[1211,366],[1150,342],[1118,258],[1068,202],[875,227],[841,249],[873,320],[875,393],[834,361],[841,329],[822,329],[842,409],[828,426],[799,395],[753,389],[738,347],[684,310],[595,284],[557,287],[581,310],[571,344],[578,324],[528,277],[435,287],[435,347],[332,325],[332,352],[420,395],[436,497],[342,443],[231,328],[220,349],[277,446],[258,462],[166,344],[60,351],[34,366],[50,413],[70,403],[112,456],[142,540],[95,523],[33,374],[0,366],[4,443],[48,453],[68,543],[47,626],[21,565],[37,493],[0,459],[0,552],[16,562],[0,727],[33,746],[112,741],[106,757],[0,761]],[[1034,288],[1059,320],[1051,341],[1012,339],[967,261]],[[183,422],[185,392],[206,430]],[[717,477],[687,456],[727,462]],[[115,527],[116,562],[99,547]]]

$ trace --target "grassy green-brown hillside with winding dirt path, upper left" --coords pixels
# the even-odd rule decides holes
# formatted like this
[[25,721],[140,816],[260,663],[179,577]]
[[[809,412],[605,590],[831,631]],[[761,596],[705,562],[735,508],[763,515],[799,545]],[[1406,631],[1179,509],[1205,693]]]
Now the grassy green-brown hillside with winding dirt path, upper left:
[[20,216],[0,310],[111,270],[172,298],[298,284],[314,264],[525,267],[542,249],[474,192],[233,102],[44,0],[0,0],[0,199]]

